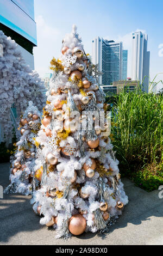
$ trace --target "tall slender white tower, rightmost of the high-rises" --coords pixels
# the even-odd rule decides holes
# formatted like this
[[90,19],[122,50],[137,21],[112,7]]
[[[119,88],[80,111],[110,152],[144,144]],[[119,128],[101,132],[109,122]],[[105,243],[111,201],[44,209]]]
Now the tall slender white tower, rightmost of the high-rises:
[[150,52],[147,51],[148,35],[141,31],[132,34],[131,78],[140,81],[148,92]]

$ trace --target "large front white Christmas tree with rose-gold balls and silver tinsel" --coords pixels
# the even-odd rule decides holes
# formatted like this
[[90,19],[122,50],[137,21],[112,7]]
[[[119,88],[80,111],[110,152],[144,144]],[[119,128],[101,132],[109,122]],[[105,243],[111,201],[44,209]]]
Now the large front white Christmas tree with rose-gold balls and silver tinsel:
[[[105,230],[128,203],[104,113],[97,67],[87,58],[76,26],[62,41],[62,55],[43,109],[35,161],[41,187],[31,203],[41,224],[57,228],[58,237]],[[96,69],[96,70],[95,70]],[[104,122],[97,124],[103,113]]]

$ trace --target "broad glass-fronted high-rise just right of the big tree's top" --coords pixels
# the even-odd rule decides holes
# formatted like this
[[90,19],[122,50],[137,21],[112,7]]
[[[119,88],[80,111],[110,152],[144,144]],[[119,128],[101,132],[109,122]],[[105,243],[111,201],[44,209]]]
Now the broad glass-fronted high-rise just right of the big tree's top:
[[99,84],[110,85],[122,80],[122,42],[108,41],[99,36],[92,40],[92,63],[98,64]]

